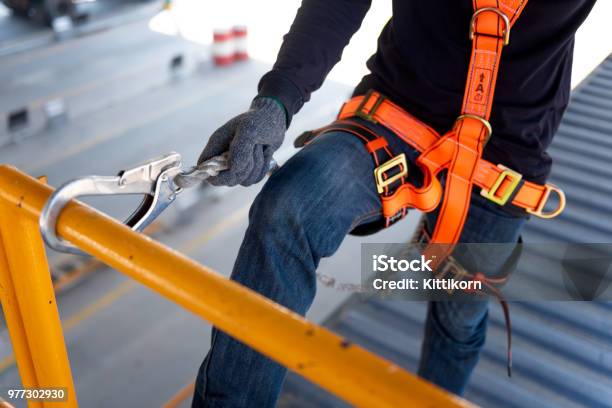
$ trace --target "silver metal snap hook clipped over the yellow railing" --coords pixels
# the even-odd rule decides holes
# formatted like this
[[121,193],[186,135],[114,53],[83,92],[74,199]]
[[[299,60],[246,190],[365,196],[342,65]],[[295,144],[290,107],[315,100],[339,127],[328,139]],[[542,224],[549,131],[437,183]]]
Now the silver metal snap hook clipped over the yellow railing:
[[173,179],[181,171],[181,155],[175,152],[149,160],[140,166],[122,170],[117,176],[89,176],[69,181],[59,187],[45,204],[40,217],[43,239],[59,252],[84,255],[74,245],[57,236],[57,219],[64,206],[80,196],[144,194],[145,197],[125,221],[134,231],[142,231],[182,191]]

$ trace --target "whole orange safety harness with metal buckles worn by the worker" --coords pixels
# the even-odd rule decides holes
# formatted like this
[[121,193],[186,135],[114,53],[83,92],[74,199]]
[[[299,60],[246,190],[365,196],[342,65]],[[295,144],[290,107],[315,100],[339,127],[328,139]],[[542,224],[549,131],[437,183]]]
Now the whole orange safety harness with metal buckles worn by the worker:
[[[510,42],[510,31],[527,4],[527,0],[473,0],[474,14],[469,38],[472,51],[461,114],[453,128],[438,134],[376,91],[346,102],[332,124],[305,132],[296,139],[296,147],[332,131],[344,131],[360,138],[372,154],[376,168],[374,179],[382,203],[384,226],[402,219],[409,208],[430,212],[440,207],[438,219],[425,255],[438,269],[448,262],[463,230],[473,186],[482,196],[515,211],[540,218],[554,218],[565,208],[565,195],[553,184],[535,184],[501,164],[482,159],[483,149],[493,131],[489,123],[499,65],[504,46]],[[418,152],[416,165],[423,173],[423,183],[407,181],[408,163],[404,154],[394,155],[384,136],[363,126],[355,118],[377,123],[392,131]],[[446,182],[438,175],[447,170]],[[546,211],[551,194],[558,203]],[[446,245],[431,245],[446,244]],[[465,274],[464,274],[465,275]],[[500,299],[510,329],[507,304],[483,274],[468,278],[484,280],[493,295]],[[508,333],[508,374],[511,367],[510,332]]]

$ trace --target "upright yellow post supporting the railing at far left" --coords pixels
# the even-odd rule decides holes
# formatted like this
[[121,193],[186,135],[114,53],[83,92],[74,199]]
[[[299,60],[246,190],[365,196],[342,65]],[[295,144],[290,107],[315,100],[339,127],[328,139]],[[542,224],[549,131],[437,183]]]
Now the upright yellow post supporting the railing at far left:
[[[20,374],[25,372],[27,378],[33,368],[36,387],[66,389],[67,399],[64,402],[37,405],[31,401],[30,406],[77,407],[51,273],[36,221],[20,211],[19,203],[11,205],[6,201],[0,202],[0,234],[6,260],[3,265],[6,271],[2,275],[3,280],[11,279],[14,289],[4,303],[9,306],[9,314],[19,310],[19,317],[13,315],[12,318],[20,318],[22,326],[21,330],[17,329],[17,337],[12,337],[12,341]],[[15,300],[15,304],[8,303]],[[25,348],[24,340],[31,365],[23,351],[17,352]],[[19,353],[22,355],[19,356]],[[24,367],[21,367],[21,363],[24,363]]]

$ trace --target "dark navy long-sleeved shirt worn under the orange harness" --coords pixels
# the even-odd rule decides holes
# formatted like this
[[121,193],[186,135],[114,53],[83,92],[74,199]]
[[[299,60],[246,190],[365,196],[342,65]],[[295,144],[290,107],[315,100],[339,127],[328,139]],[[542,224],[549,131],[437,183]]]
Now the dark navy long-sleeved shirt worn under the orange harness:
[[[370,0],[304,0],[260,96],[280,100],[289,118],[318,89],[359,29]],[[595,0],[532,0],[504,48],[484,157],[543,182],[546,148],[568,104],[574,33]],[[460,114],[470,57],[469,0],[395,0],[393,16],[355,94],[375,89],[435,128]]]

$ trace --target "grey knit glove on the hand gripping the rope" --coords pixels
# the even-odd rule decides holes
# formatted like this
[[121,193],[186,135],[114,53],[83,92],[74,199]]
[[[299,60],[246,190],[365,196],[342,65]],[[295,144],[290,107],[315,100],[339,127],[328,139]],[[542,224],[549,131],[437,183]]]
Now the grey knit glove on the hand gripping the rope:
[[285,130],[285,110],[280,103],[271,98],[255,98],[248,111],[212,134],[198,164],[229,151],[229,169],[208,181],[215,186],[250,186],[268,172]]

